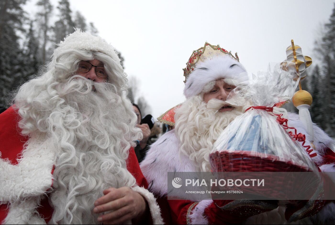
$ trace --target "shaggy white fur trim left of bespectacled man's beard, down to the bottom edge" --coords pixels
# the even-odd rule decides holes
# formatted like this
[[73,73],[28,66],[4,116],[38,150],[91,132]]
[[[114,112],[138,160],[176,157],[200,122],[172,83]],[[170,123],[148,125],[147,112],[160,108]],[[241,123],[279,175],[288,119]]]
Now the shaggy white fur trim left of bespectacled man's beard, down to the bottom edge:
[[9,204],[5,224],[45,224],[35,209],[52,185],[55,154],[47,149],[47,142],[30,138],[17,165],[0,159],[0,202]]

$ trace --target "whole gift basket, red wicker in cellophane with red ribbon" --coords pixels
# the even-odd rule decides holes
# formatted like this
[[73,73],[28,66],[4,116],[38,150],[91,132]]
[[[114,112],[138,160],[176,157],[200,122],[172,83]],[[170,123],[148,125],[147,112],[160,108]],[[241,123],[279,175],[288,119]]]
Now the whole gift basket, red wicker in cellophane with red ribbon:
[[[268,71],[253,74],[229,94],[226,102],[231,105],[241,106],[246,101],[252,105],[245,107],[245,113],[236,117],[214,143],[209,156],[212,172],[218,179],[227,178],[225,172],[266,172],[267,182],[266,188],[242,185],[234,190],[286,199],[283,186],[287,191],[304,191],[320,185],[322,178],[311,159],[313,149],[305,144],[304,134],[288,126],[286,110],[276,107],[293,96],[299,82],[295,76],[294,71],[279,64],[269,66]],[[288,182],[285,173],[275,172],[312,173],[302,184]]]

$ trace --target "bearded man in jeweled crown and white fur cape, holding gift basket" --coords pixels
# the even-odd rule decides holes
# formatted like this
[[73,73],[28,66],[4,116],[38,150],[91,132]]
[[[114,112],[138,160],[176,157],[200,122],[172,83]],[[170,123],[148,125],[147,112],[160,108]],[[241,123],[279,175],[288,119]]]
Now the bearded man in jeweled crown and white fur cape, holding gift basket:
[[[233,56],[220,46],[206,43],[193,51],[186,65],[186,101],[158,118],[175,125],[175,129],[152,144],[140,164],[149,190],[160,198],[161,208],[165,209],[162,211],[165,221],[172,224],[334,223],[335,204],[332,201],[296,206],[258,200],[195,201],[199,196],[168,189],[169,172],[211,172],[209,154],[214,142],[245,110],[226,102],[237,84],[248,80],[237,54]],[[244,106],[248,105],[246,101]],[[290,127],[307,134],[297,114],[288,113],[288,119]],[[321,171],[335,172],[335,154],[330,149],[334,141],[315,124],[313,128],[315,149],[312,154],[317,153],[317,156],[312,159]],[[309,144],[307,134],[306,145]],[[168,195],[178,200],[167,200]]]

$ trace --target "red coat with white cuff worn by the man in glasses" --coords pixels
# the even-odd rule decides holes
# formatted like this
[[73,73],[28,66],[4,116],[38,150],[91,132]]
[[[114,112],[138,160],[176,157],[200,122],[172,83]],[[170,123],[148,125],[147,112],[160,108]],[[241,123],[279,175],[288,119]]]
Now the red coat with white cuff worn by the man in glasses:
[[[12,107],[10,107],[5,112],[0,114],[0,130],[1,130],[0,132],[0,143],[1,143],[0,144],[0,153],[1,153],[0,157],[1,159],[0,161],[2,163],[0,164],[0,173],[6,172],[4,170],[6,170],[7,168],[17,169],[16,167],[19,166],[17,159],[21,155],[21,152],[24,148],[24,144],[29,139],[27,136],[22,136],[20,134],[20,129],[17,126],[17,123],[19,120],[20,120],[20,116],[16,113],[16,111]],[[127,169],[135,177],[136,183],[139,186],[139,187],[135,187],[134,190],[139,192],[149,204],[152,219],[148,218],[148,221],[152,221],[154,224],[161,224],[162,219],[160,216],[159,207],[153,195],[146,190],[148,188],[148,183],[141,172],[141,169],[139,167],[139,164],[138,164],[133,148],[130,148],[129,150],[129,156],[127,159]],[[53,171],[54,171],[54,167],[52,165],[51,167],[49,167],[49,175],[51,175]],[[42,177],[43,177],[43,173],[42,173]],[[44,180],[48,180],[48,179],[50,180],[50,177],[52,176],[45,177],[46,179]],[[18,177],[17,184],[13,184],[13,185],[20,186],[20,184],[24,182],[24,180],[20,180],[21,178],[22,177]],[[6,177],[2,177],[2,179],[4,179],[3,181],[4,183],[8,181],[8,179],[6,180]],[[52,186],[52,178],[50,181],[51,182],[50,182],[49,188]],[[1,177],[0,177],[0,183],[1,183]],[[38,185],[38,183],[35,183],[35,185]],[[43,188],[45,189],[47,185],[45,184],[43,185],[44,187],[42,187],[42,189]],[[1,187],[1,189],[8,189],[7,187],[8,186],[4,184]],[[34,192],[38,192],[38,191],[30,189],[26,191],[25,196],[31,194],[31,196],[34,197],[36,196]],[[0,198],[1,198],[0,201],[6,202],[6,196],[8,196],[10,193],[11,192],[9,190],[8,191],[2,190],[0,192]],[[7,204],[0,205],[0,223],[1,224],[5,222],[5,218],[7,216],[15,216],[15,215],[10,215],[10,210],[11,210],[10,205],[7,205]],[[49,220],[51,219],[52,212],[53,212],[53,209],[48,203],[48,198],[45,198],[44,200],[41,201],[41,206],[37,208],[37,211],[40,215],[42,215],[42,218],[45,218],[45,222],[48,223]],[[17,220],[17,222],[21,223],[22,220]],[[25,221],[25,222],[28,223],[29,221]]]

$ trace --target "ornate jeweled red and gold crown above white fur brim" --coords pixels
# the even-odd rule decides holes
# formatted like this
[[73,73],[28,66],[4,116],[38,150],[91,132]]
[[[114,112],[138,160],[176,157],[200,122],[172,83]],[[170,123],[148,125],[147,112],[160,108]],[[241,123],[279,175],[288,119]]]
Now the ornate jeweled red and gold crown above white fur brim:
[[205,43],[204,47],[199,48],[198,50],[193,51],[191,57],[186,63],[186,68],[184,70],[184,76],[185,76],[185,81],[186,82],[188,76],[193,72],[195,67],[197,67],[197,63],[199,62],[204,62],[207,59],[212,59],[214,56],[219,56],[219,55],[228,55],[231,58],[236,59],[237,61],[239,60],[239,57],[237,53],[235,53],[235,57],[231,54],[231,51],[227,51],[223,48],[221,48],[219,45],[214,46],[209,43]]

